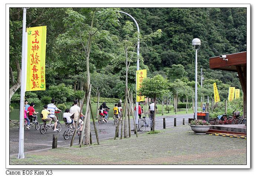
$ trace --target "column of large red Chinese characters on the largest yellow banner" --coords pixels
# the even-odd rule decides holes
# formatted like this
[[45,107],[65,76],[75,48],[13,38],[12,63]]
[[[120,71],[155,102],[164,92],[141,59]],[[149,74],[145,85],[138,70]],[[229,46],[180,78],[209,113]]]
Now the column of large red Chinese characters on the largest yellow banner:
[[[32,41],[32,44],[39,43],[39,41],[37,40],[37,37],[39,36],[38,30],[34,31],[34,33],[32,33],[32,35],[35,36],[34,37],[35,40]],[[32,79],[31,79],[32,89],[39,88],[38,81],[36,81],[36,80],[38,80],[38,78],[39,78],[38,74],[37,74],[37,72],[38,72],[37,66],[38,66],[38,62],[40,62],[40,59],[39,59],[40,56],[38,56],[37,53],[34,55],[34,51],[38,50],[38,49],[39,49],[38,45],[37,45],[37,47],[36,47],[36,45],[32,45],[32,47],[31,47],[31,50],[33,51],[33,54],[30,55],[31,56],[30,57],[30,59],[31,59],[31,64],[30,65],[33,65],[33,68],[32,68],[33,75],[32,75]]]

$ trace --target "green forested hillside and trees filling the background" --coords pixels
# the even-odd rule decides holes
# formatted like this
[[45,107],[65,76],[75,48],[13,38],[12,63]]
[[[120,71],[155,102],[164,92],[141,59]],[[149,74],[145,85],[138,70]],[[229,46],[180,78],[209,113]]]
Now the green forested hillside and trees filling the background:
[[[199,38],[202,44],[198,53],[198,84],[200,68],[205,72],[204,89],[199,90],[200,94],[212,97],[213,82],[217,83],[222,100],[227,97],[229,86],[240,88],[235,72],[210,70],[208,60],[209,57],[246,51],[246,8],[115,10],[127,12],[138,22],[141,35],[140,69],[147,69],[149,77],[161,74],[171,82],[178,78],[193,88],[195,52],[191,42]],[[92,93],[95,95],[98,88],[102,97],[122,98],[125,88],[125,49],[129,61],[131,58],[128,87],[134,91],[134,35],[137,29],[130,17],[120,14],[118,24],[113,25],[112,18],[102,16],[102,8],[30,8],[27,10],[26,26],[47,26],[46,91],[34,92],[36,95],[31,98],[58,98],[50,91],[53,88],[62,90],[63,86],[70,90],[64,102],[78,98],[77,91],[83,90],[81,85],[86,81],[86,55],[81,43],[86,34],[82,31],[91,25],[92,11],[95,12],[94,30],[98,32],[97,29],[100,29],[92,39],[90,50]],[[22,13],[22,8],[10,8],[10,88],[17,83],[18,68],[21,67]],[[83,26],[77,27],[78,19],[83,22],[84,29]],[[132,27],[129,28],[127,21],[132,22]],[[175,69],[183,74],[175,75]],[[18,98],[16,94],[13,101],[15,97]]]

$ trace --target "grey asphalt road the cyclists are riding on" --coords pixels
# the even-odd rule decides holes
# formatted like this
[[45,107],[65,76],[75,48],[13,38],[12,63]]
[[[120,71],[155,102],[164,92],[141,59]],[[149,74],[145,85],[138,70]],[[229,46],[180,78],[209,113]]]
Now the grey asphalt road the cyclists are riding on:
[[[163,116],[164,117],[164,116]],[[156,117],[156,129],[163,129],[163,117]],[[171,117],[166,116],[166,128],[173,127],[174,126],[174,117],[176,117],[176,124],[182,125],[182,119],[185,119],[185,124],[188,123],[188,118],[192,118],[193,115],[173,115]],[[149,118],[146,118],[147,121],[149,121]],[[130,118],[131,123],[131,129],[134,129],[134,122],[133,119]],[[92,133],[92,142],[97,143],[95,132],[94,132],[94,126],[91,122],[91,133]],[[114,138],[114,133],[116,129],[116,125],[114,125],[114,121],[112,117],[110,117],[110,120],[108,123],[101,123],[99,124],[98,121],[96,121],[96,128],[98,131],[98,137],[99,140],[102,141],[104,139],[111,139]],[[70,141],[72,139],[72,136],[70,139],[65,140],[63,137],[64,131],[68,130],[67,127],[65,127],[64,124],[62,124],[62,130],[60,132],[53,131],[52,129],[48,129],[44,135],[40,133],[39,130],[36,130],[35,127],[32,127],[32,129],[24,129],[24,153],[31,151],[41,151],[44,149],[51,149],[52,148],[52,135],[58,134],[58,147],[60,146],[68,146],[70,145]],[[119,135],[121,131],[121,127],[119,125]],[[150,127],[146,129],[146,131],[150,131]],[[141,132],[139,132],[141,133]],[[134,131],[131,131],[131,134],[134,135]],[[10,140],[10,156],[17,155],[18,154],[18,145],[19,145],[19,129],[18,128],[11,128],[9,133],[9,140]],[[78,144],[78,136],[74,139],[74,145]]]

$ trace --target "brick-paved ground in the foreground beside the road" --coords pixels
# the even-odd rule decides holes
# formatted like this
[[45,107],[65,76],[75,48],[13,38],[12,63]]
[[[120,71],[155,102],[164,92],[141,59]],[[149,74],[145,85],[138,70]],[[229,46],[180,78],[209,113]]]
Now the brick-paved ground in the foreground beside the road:
[[11,156],[10,164],[246,164],[246,139],[195,135],[188,125],[100,143]]

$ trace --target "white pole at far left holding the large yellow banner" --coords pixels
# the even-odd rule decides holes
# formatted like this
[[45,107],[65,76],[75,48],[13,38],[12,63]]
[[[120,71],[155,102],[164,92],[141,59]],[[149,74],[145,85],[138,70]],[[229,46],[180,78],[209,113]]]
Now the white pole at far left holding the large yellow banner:
[[26,8],[23,8],[22,27],[22,60],[21,60],[21,84],[20,84],[20,131],[19,131],[19,153],[17,158],[25,158],[24,154],[24,98],[26,78]]

